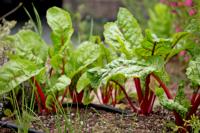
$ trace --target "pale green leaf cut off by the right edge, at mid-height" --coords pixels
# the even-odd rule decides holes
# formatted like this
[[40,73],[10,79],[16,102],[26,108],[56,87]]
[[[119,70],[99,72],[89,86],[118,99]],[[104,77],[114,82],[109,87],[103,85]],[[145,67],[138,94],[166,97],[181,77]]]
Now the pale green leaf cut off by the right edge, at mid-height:
[[188,79],[195,85],[200,85],[200,59],[191,60],[186,70]]

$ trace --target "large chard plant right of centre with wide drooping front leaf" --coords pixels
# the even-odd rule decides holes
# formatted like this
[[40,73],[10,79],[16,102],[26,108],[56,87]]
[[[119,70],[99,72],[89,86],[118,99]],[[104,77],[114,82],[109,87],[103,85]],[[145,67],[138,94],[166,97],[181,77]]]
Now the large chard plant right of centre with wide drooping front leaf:
[[[120,8],[115,22],[105,26],[104,37],[118,58],[105,65],[88,70],[87,76],[94,88],[118,86],[124,93],[134,112],[149,114],[155,101],[155,88],[161,86],[166,95],[171,94],[164,82],[166,62],[175,54],[186,48],[180,43],[188,33],[180,32],[169,38],[159,38],[150,30],[142,30],[137,20],[125,8]],[[135,83],[139,107],[133,105],[124,87],[127,79]]]

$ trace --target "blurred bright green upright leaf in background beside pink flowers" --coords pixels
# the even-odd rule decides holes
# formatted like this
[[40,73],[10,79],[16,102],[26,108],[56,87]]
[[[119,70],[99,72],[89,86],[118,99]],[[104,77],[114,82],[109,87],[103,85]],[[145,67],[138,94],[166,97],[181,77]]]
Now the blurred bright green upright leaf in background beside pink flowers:
[[149,29],[158,37],[169,37],[173,31],[173,16],[164,4],[156,4],[154,10],[149,10]]

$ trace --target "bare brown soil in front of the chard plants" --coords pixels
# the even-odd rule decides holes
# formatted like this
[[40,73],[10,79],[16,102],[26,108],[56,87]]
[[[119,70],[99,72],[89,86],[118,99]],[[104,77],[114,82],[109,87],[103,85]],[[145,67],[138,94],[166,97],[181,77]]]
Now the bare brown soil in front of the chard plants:
[[[51,133],[64,133],[65,128],[68,132],[75,133],[161,133],[168,132],[166,122],[173,121],[173,115],[161,107],[155,108],[154,113],[148,116],[135,113],[118,114],[92,107],[78,110],[72,108],[66,116],[64,119],[63,115],[41,115],[38,117],[40,120],[33,121],[31,127],[43,132],[47,132],[44,128],[48,128]],[[64,126],[66,123],[69,125]],[[13,132],[5,128],[0,128],[0,131]]]

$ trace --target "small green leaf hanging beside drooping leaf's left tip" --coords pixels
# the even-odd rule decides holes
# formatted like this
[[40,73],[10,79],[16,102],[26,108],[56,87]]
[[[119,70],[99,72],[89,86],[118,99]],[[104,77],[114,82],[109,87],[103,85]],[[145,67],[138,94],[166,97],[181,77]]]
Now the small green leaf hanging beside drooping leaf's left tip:
[[79,78],[76,88],[77,92],[80,93],[83,89],[85,89],[90,84],[90,79],[87,77],[87,72],[83,73]]

